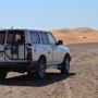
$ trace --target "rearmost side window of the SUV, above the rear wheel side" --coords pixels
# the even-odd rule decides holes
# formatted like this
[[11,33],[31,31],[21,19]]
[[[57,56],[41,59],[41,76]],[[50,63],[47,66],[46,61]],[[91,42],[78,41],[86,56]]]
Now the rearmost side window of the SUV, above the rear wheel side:
[[38,32],[30,32],[30,39],[33,44],[40,44]]

